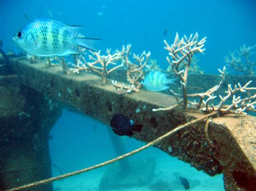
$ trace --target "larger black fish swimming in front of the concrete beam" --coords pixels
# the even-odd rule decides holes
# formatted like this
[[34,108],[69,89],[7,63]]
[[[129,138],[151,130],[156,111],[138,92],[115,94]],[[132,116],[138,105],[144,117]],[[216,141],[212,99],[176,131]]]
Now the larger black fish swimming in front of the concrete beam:
[[110,126],[113,132],[120,136],[132,136],[133,131],[139,132],[143,127],[142,125],[134,125],[134,122],[131,119],[121,114],[116,114],[112,117]]

